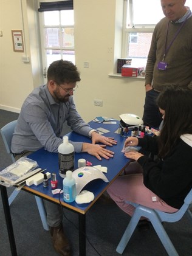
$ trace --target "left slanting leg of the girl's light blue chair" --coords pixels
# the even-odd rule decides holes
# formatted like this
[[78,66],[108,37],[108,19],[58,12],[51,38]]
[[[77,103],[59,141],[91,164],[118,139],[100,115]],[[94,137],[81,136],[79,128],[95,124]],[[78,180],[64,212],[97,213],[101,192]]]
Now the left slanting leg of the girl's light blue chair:
[[123,237],[120,240],[120,242],[118,243],[118,246],[116,248],[116,252],[118,252],[119,254],[122,254],[123,251],[125,250],[125,247],[128,244],[128,242],[132,236],[132,233],[134,232],[135,227],[137,226],[137,223],[140,220],[140,215],[135,214],[135,213],[132,216],[131,220],[129,221],[128,227],[126,228],[126,230],[123,234]]

